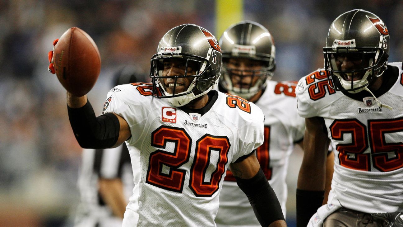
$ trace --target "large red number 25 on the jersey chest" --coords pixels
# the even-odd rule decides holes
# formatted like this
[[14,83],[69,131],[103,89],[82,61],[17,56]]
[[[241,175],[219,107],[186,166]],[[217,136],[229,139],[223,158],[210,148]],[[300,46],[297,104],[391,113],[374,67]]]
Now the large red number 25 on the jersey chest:
[[[332,139],[343,140],[345,133],[351,133],[352,143],[339,144],[336,147],[340,152],[340,165],[356,170],[371,171],[370,160],[372,158],[374,168],[381,172],[402,168],[403,143],[386,143],[386,134],[403,132],[403,118],[368,120],[368,127],[371,154],[364,154],[363,152],[368,148],[367,128],[364,124],[357,119],[336,120],[332,123],[330,126]],[[354,154],[354,156],[350,154]]]

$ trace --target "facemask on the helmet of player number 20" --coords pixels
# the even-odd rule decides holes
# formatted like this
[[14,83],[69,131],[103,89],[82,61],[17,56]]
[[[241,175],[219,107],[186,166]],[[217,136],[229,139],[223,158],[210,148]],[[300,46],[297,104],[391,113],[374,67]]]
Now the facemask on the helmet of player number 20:
[[[183,61],[183,73],[181,75],[164,76],[164,62],[170,59],[176,59]],[[211,65],[207,59],[203,57],[198,57],[194,55],[179,54],[174,55],[174,53],[161,53],[154,55],[151,60],[151,79],[153,84],[153,96],[157,98],[167,98],[168,101],[174,106],[183,106],[200,97],[212,88],[203,89],[206,81],[210,79],[208,74],[211,71]],[[191,72],[189,72],[191,69]],[[192,78],[189,86],[181,91],[177,92],[177,86],[181,86],[184,82],[182,78]],[[171,80],[169,80],[171,79]],[[169,80],[169,88],[166,87],[166,82],[164,80]],[[172,81],[173,80],[173,81]],[[157,88],[160,88],[162,93],[158,93]]]

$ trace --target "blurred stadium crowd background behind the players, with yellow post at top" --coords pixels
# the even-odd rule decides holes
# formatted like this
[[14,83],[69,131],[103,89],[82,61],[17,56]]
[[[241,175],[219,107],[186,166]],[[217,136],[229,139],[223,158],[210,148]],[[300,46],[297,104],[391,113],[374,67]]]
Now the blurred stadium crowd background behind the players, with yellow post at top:
[[[389,61],[401,61],[403,1],[0,0],[0,226],[70,226],[81,148],[69,125],[65,91],[47,71],[52,41],[70,27],[85,30],[100,50],[101,74],[89,92],[100,114],[111,76],[124,65],[148,74],[158,41],[171,27],[195,23],[220,38],[231,23],[257,21],[275,40],[273,80],[298,80],[323,66],[330,23],[354,8],[383,19],[391,34]],[[292,154],[287,178],[291,227],[301,157],[300,150]]]

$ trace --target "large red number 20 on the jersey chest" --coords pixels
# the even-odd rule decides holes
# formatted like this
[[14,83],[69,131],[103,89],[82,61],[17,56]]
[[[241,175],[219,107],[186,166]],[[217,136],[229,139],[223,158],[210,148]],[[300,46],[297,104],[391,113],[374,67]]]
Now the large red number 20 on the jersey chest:
[[[165,148],[167,142],[175,143],[174,152],[162,150],[150,154],[146,182],[169,191],[182,192],[186,170],[180,166],[189,161],[191,152],[191,137],[183,128],[161,126],[152,132],[151,144],[154,147]],[[219,187],[225,165],[228,162],[230,148],[227,137],[204,135],[196,142],[195,158],[190,170],[189,187],[197,197],[210,197]],[[212,150],[219,151],[216,169],[210,180],[206,182],[205,173],[210,164]],[[162,172],[163,164],[169,167],[169,173]]]

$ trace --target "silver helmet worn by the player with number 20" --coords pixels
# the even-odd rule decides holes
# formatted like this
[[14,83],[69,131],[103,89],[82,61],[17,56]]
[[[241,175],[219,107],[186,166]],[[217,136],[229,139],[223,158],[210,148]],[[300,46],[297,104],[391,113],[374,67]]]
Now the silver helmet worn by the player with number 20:
[[[186,70],[180,76],[162,76],[164,60],[185,59]],[[150,78],[153,96],[167,98],[174,106],[183,106],[200,97],[217,84],[221,71],[221,48],[214,35],[194,24],[179,25],[170,29],[160,40],[157,53],[151,59]],[[187,66],[197,65],[196,73],[188,75]],[[173,92],[168,93],[163,79],[174,79]],[[193,78],[187,90],[175,94],[178,78]]]

